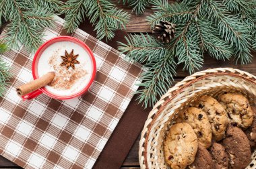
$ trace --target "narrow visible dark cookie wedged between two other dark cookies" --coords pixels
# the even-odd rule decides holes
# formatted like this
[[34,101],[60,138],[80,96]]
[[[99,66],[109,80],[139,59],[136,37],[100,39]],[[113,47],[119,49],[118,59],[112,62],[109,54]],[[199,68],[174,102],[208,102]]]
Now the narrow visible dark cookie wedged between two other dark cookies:
[[228,154],[221,144],[216,142],[212,144],[210,153],[212,154],[212,160],[214,160],[215,169],[228,169]]

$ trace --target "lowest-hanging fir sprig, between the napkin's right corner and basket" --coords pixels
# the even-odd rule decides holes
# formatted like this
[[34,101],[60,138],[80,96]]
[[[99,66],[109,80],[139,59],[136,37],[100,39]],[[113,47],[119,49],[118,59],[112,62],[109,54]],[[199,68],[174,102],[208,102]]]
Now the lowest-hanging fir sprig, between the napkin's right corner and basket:
[[173,81],[172,76],[176,74],[177,64],[170,51],[164,50],[159,53],[158,59],[148,61],[145,67],[148,70],[141,74],[143,82],[139,84],[144,89],[137,91],[137,100],[147,108],[152,107],[168,91]]

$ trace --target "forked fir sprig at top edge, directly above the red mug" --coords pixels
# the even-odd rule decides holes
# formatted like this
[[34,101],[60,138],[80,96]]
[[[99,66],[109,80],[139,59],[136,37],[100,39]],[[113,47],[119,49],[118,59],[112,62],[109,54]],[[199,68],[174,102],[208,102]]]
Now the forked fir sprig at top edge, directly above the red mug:
[[67,32],[74,32],[85,17],[90,19],[101,40],[106,37],[110,40],[115,36],[115,31],[125,28],[129,22],[129,15],[122,9],[118,9],[111,1],[106,0],[69,0],[61,13],[65,13],[65,25]]

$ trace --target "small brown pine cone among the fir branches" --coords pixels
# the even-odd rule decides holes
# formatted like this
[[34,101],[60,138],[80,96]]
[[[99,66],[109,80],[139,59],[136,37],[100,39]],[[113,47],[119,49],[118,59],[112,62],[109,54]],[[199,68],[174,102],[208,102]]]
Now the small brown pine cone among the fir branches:
[[164,43],[170,42],[174,38],[175,24],[168,21],[160,21],[159,24],[156,24],[152,34],[156,35],[156,38],[161,40]]

